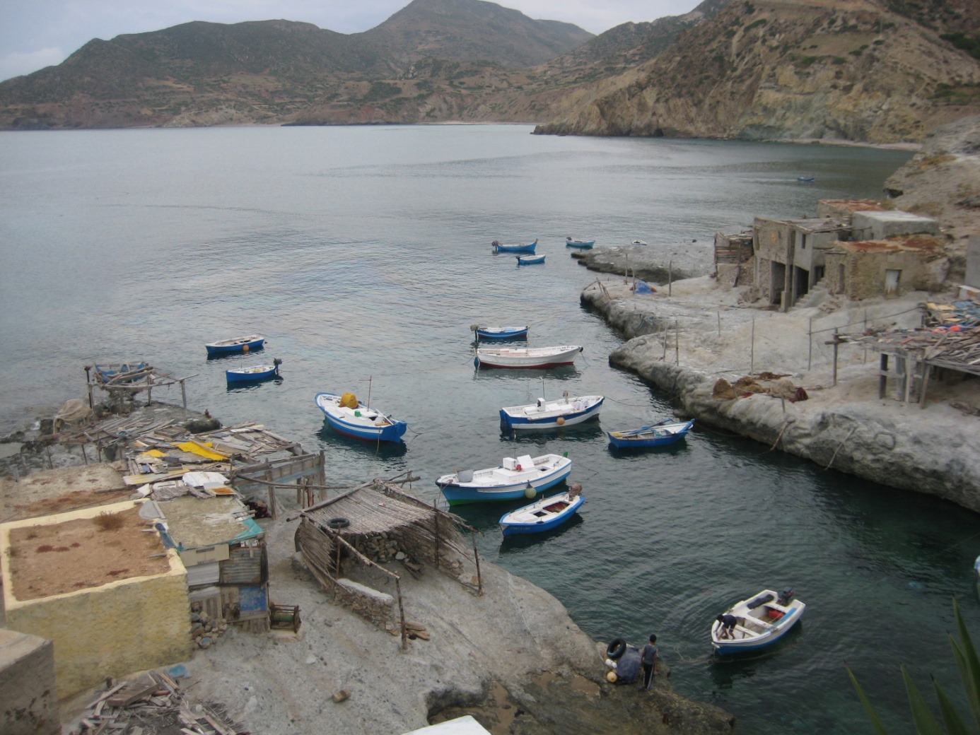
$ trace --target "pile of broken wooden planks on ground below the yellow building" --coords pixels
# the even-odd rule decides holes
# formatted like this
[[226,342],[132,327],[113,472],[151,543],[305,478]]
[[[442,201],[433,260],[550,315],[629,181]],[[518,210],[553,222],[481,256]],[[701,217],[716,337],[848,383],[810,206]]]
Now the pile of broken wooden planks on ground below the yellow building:
[[[108,683],[108,682],[107,682]],[[163,671],[139,674],[108,688],[70,731],[72,735],[249,735],[215,704],[191,705]]]

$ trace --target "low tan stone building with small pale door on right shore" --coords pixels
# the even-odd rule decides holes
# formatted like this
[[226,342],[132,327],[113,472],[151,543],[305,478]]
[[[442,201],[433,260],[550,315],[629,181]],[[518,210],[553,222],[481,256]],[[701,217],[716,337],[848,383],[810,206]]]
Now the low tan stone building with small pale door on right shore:
[[942,243],[931,235],[839,241],[825,259],[827,289],[855,300],[939,291],[950,270]]

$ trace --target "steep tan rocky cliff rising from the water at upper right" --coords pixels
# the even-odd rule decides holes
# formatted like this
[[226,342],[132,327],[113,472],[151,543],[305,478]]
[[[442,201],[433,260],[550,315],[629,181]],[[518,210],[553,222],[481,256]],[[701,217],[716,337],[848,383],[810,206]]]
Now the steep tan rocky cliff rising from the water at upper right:
[[734,2],[540,133],[920,141],[980,111],[980,61],[873,2]]

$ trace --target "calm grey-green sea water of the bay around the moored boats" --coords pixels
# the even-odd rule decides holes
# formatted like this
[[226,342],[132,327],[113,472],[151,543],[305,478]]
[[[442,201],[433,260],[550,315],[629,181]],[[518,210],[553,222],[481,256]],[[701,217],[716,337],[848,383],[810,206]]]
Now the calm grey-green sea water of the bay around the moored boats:
[[[501,544],[507,508],[461,515],[483,554],[555,594],[599,640],[657,632],[672,681],[743,733],[869,732],[850,663],[897,732],[906,662],[954,691],[957,595],[980,621],[980,517],[699,430],[614,454],[604,429],[670,406],[609,367],[619,344],[579,306],[595,274],[564,236],[600,245],[711,240],[753,216],[873,197],[908,154],[826,146],[532,136],[524,126],[212,128],[0,133],[0,431],[83,395],[82,366],[145,359],[194,375],[188,399],[326,451],[331,483],[494,466],[567,452],[588,500],[542,538]],[[809,184],[798,175],[812,175]],[[543,267],[489,243],[539,238]],[[476,371],[473,322],[582,344],[574,368]],[[204,343],[261,332],[247,358]],[[228,390],[223,370],[282,358],[283,379]],[[398,448],[324,426],[319,391],[353,391],[409,422]],[[602,393],[601,420],[512,441],[501,406]],[[179,389],[154,393],[179,403]],[[519,504],[518,504],[519,505]],[[274,585],[274,581],[273,581]],[[806,618],[776,651],[711,659],[711,618],[793,586]]]

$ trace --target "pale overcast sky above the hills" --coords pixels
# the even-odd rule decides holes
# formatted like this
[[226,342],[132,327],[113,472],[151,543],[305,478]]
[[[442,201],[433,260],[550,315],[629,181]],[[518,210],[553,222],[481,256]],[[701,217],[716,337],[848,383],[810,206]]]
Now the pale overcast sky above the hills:
[[[340,33],[368,30],[411,0],[0,0],[0,80],[60,64],[92,38],[189,21],[283,18]],[[526,16],[602,33],[627,21],[679,16],[700,0],[504,0]]]

